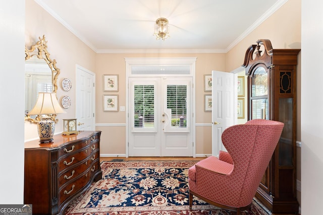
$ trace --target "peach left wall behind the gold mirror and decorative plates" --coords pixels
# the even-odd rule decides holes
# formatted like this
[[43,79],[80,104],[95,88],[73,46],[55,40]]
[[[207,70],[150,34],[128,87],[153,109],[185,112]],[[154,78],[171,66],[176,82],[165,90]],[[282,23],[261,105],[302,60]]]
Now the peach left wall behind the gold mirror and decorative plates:
[[[76,64],[95,73],[96,54],[66,27],[49,15],[34,1],[26,1],[25,44],[28,48],[45,35],[48,52],[51,59],[56,59],[61,74],[58,78],[58,99],[63,96],[71,98],[71,106],[65,109],[67,113],[59,114],[55,133],[63,131],[63,120],[75,117],[75,68]],[[23,51],[23,50],[22,50]],[[68,78],[72,82],[72,89],[65,92],[61,82]],[[36,124],[25,122],[25,140],[38,138]]]

